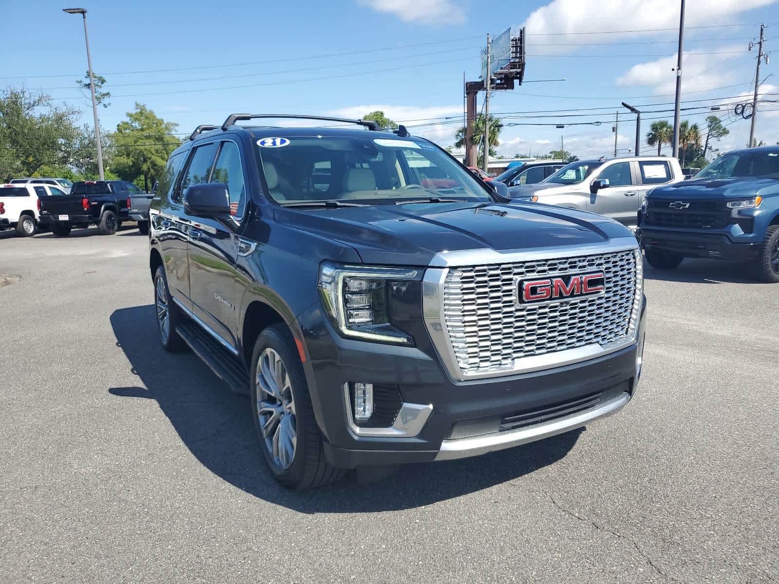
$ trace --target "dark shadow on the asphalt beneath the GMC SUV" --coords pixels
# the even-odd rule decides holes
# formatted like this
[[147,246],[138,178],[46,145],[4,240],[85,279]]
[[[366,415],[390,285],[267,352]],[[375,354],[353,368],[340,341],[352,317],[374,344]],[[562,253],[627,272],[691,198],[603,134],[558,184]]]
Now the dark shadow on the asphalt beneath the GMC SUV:
[[[108,391],[123,398],[154,399],[190,452],[235,487],[305,513],[375,512],[415,508],[479,491],[562,459],[583,430],[474,459],[409,464],[386,479],[358,484],[354,473],[315,493],[280,487],[260,452],[249,398],[232,393],[194,354],[167,354],[157,339],[152,304],[122,308],[111,326],[139,384]],[[122,400],[122,408],[133,402]]]

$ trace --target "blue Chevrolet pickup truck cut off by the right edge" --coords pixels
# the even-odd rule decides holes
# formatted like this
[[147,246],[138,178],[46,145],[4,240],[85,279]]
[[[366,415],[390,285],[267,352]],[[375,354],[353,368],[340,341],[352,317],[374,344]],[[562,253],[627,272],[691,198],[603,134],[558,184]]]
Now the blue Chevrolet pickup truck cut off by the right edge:
[[779,146],[735,150],[692,180],[647,193],[636,237],[650,266],[741,260],[779,283]]

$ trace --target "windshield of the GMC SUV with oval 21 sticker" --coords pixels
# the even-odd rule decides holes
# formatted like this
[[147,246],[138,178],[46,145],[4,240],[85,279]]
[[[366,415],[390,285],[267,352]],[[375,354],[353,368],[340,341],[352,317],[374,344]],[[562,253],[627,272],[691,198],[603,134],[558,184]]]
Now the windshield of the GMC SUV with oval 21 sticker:
[[427,142],[312,135],[263,138],[257,145],[270,195],[281,205],[492,200],[470,173]]

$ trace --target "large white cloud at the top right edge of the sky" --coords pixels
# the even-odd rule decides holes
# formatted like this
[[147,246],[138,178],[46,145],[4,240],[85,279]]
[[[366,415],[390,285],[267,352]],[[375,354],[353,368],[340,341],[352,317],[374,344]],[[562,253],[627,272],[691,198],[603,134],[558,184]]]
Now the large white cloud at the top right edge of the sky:
[[[739,12],[760,8],[777,0],[687,0],[686,26],[731,24]],[[670,0],[553,0],[534,10],[525,20],[530,51],[541,54],[568,53],[576,47],[548,47],[545,44],[610,43],[635,37],[657,37],[657,32],[630,32],[679,27],[679,2]],[[626,31],[614,34],[587,34],[572,37],[535,36],[543,33],[594,33]],[[668,31],[668,37],[674,33]],[[566,40],[567,39],[567,40]]]

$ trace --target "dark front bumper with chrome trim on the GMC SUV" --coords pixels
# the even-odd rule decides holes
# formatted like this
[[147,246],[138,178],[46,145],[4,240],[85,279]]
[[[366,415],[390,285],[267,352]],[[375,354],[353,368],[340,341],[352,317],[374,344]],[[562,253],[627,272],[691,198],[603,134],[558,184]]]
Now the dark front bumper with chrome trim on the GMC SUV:
[[[615,413],[635,395],[645,315],[644,301],[638,342],[615,353],[520,375],[453,381],[439,359],[420,348],[344,339],[318,307],[311,308],[298,324],[326,456],[344,468],[458,459],[561,434]],[[344,384],[354,382],[397,387],[404,405],[413,406],[409,415],[401,409],[381,435],[361,432],[344,391]],[[571,406],[576,403],[584,407]],[[523,417],[530,423],[506,424]]]

